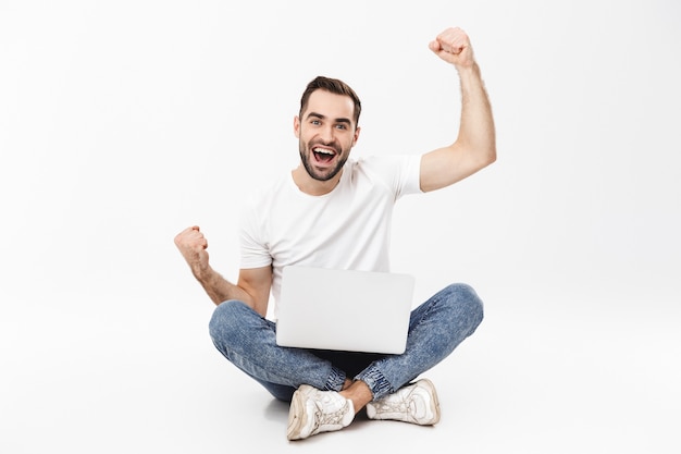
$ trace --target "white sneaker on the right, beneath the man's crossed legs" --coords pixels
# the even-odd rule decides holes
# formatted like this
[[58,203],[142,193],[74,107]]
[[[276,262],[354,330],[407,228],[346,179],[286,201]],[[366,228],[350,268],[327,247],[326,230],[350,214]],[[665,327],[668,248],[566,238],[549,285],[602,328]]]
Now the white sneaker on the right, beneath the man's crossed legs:
[[428,379],[400,388],[393,394],[367,404],[369,419],[393,419],[431,426],[439,421],[439,402]]

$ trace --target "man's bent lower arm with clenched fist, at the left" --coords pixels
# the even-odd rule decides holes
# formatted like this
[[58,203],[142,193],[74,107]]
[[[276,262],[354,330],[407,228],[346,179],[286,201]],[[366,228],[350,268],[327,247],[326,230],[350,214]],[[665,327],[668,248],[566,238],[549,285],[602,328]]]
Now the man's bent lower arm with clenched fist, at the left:
[[197,225],[187,228],[175,236],[175,245],[189,265],[210,299],[219,305],[227,299],[246,303],[265,316],[272,285],[272,267],[243,269],[237,284],[224,279],[208,261],[208,241]]

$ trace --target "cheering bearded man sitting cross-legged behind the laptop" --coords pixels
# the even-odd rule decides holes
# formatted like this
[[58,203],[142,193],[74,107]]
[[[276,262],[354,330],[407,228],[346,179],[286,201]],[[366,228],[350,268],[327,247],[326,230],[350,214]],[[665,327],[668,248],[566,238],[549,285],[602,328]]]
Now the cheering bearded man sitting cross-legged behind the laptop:
[[210,322],[218,349],[276,398],[290,401],[289,440],[342,429],[362,408],[370,419],[436,424],[435,388],[426,379],[413,380],[482,321],[482,302],[465,284],[447,286],[412,311],[401,355],[280,347],[276,326],[265,318],[270,294],[278,297],[283,267],[387,271],[394,201],[449,186],[496,159],[492,111],[468,36],[448,28],[430,49],[451,63],[460,79],[461,121],[451,145],[422,156],[348,159],[360,133],[361,103],[343,82],[317,77],[294,119],[299,167],[253,195],[244,210],[236,284],[210,267],[198,226],[175,237],[218,305]]

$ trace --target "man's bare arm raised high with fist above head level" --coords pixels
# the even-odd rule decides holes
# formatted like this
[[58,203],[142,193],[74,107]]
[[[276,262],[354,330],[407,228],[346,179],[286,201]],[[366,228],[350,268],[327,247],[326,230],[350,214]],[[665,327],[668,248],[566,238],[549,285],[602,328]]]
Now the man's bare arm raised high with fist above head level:
[[421,191],[449,186],[496,160],[496,138],[490,99],[466,33],[448,28],[429,46],[456,66],[461,83],[461,121],[456,142],[421,158]]

